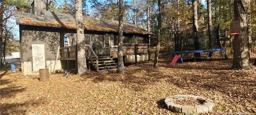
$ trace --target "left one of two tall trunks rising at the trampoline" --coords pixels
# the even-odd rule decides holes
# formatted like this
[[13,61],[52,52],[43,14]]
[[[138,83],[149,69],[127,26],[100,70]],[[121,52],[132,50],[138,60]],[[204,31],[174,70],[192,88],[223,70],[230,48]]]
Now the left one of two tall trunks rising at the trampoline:
[[[193,6],[193,38],[194,38],[194,47],[195,50],[199,50],[199,42],[198,42],[198,14],[197,14],[197,0],[192,0]],[[196,57],[200,57],[200,54],[195,54]]]

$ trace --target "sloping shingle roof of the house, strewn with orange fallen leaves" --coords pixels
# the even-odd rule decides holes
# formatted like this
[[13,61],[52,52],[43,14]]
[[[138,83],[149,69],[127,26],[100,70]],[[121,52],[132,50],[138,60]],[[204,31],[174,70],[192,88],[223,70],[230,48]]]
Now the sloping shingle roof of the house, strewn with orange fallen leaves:
[[[54,28],[76,29],[76,19],[74,16],[60,12],[44,11],[44,16],[36,16],[30,13],[14,12],[17,24],[44,26]],[[124,22],[124,33],[153,35],[134,24]],[[102,20],[91,17],[84,17],[84,29],[103,32],[118,32],[118,21]]]

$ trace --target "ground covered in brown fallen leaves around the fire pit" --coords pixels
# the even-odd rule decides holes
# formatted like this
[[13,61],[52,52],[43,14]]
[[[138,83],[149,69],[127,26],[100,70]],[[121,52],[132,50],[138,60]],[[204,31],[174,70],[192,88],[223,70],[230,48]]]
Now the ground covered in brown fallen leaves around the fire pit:
[[127,66],[116,71],[90,71],[84,77],[62,73],[25,78],[21,72],[1,71],[1,115],[172,115],[164,106],[171,95],[191,94],[215,102],[213,114],[256,114],[256,70],[230,70],[232,59],[168,65],[170,58]]

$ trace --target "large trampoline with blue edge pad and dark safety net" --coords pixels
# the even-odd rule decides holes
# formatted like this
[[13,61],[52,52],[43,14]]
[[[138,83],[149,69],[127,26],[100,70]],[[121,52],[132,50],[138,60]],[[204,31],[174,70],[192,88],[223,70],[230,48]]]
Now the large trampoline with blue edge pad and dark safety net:
[[[198,40],[198,48],[195,47],[196,40],[194,39],[194,31],[193,28],[189,28],[188,30],[184,30],[180,32],[180,34],[173,33],[173,44],[174,44],[174,52],[172,52],[173,56],[182,54],[194,54],[194,59],[196,61],[195,54],[200,53],[213,53],[220,52],[220,58],[223,59],[223,51],[226,56],[226,48],[223,48],[220,44],[220,36],[219,36],[219,26],[216,26],[212,30],[211,41],[208,38],[208,35],[204,35],[204,32],[197,32]],[[199,37],[202,36],[202,37]],[[212,59],[212,55],[209,55],[210,59]]]

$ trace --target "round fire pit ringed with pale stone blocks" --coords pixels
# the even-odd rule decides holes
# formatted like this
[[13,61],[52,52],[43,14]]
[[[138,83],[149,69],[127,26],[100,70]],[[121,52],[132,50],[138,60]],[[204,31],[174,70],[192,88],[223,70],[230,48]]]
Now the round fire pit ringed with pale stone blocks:
[[[199,105],[180,105],[175,102],[178,100],[192,99],[194,101],[199,101]],[[166,107],[172,111],[179,113],[208,113],[212,111],[215,106],[212,99],[196,96],[196,95],[173,95],[164,100]]]

